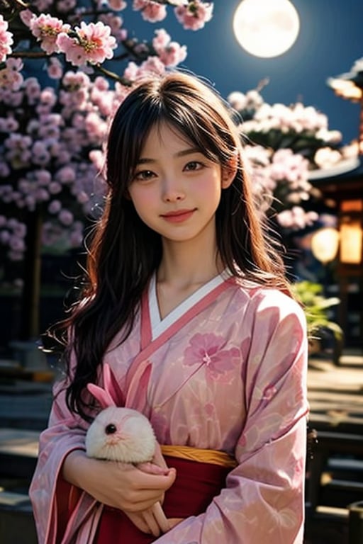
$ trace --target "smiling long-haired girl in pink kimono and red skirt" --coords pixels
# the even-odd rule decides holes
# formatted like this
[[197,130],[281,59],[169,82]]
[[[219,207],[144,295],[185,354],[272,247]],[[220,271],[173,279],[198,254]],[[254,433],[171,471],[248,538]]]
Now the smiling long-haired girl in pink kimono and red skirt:
[[[106,178],[30,487],[40,543],[301,544],[305,317],[232,115],[191,75],[143,81],[113,118]],[[155,429],[155,474],[84,453],[105,363]]]

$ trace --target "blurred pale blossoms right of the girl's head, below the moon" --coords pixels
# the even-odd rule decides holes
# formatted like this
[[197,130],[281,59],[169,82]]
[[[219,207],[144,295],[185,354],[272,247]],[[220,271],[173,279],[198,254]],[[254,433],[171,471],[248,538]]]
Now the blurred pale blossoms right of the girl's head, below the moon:
[[320,194],[309,181],[311,171],[347,157],[342,135],[329,130],[328,118],[312,106],[269,104],[257,89],[228,96],[238,112],[245,138],[246,162],[259,207],[274,214],[283,232],[304,229],[318,220]]

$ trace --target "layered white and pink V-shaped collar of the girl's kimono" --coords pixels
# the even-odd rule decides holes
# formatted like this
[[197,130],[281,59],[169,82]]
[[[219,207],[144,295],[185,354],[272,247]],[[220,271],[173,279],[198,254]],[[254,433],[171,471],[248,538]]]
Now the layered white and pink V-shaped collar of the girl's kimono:
[[141,305],[141,346],[154,344],[155,341],[164,341],[164,336],[173,334],[173,331],[189,321],[201,307],[208,305],[225,288],[228,287],[230,273],[224,271],[212,278],[189,297],[174,308],[164,319],[160,317],[157,303],[156,276],[152,276],[149,287],[145,291]]

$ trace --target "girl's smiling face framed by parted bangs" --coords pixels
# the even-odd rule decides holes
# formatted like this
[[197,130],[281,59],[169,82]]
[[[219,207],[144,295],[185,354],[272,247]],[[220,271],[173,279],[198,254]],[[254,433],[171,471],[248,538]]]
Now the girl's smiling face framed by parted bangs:
[[233,177],[181,132],[161,123],[147,136],[129,195],[150,229],[165,240],[187,242],[215,232],[221,191]]

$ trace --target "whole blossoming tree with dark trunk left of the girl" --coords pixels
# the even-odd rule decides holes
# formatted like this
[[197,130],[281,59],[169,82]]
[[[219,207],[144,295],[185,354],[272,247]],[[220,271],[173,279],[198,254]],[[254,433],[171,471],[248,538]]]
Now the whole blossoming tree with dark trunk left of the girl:
[[103,203],[113,112],[140,75],[186,58],[162,28],[130,38],[130,9],[190,30],[213,14],[202,0],[0,0],[0,254],[22,265],[23,340],[40,333],[42,252],[79,247]]

